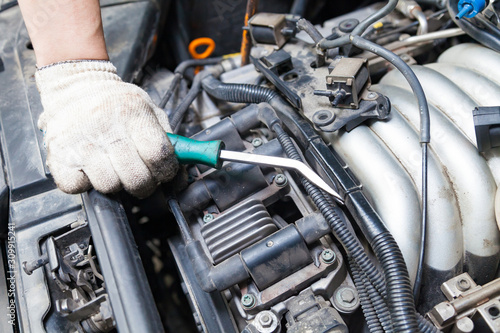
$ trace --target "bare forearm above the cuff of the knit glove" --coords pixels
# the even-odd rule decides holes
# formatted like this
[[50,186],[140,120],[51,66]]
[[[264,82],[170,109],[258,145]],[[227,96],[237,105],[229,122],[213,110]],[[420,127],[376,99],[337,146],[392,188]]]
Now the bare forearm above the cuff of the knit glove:
[[38,66],[108,60],[98,0],[19,0]]

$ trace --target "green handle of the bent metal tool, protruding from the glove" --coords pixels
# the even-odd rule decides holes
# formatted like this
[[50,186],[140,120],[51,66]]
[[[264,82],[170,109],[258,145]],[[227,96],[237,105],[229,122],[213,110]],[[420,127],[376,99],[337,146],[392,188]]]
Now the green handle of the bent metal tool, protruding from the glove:
[[167,133],[174,146],[174,152],[181,164],[203,164],[212,168],[220,169],[220,151],[224,149],[221,140],[198,141],[177,134]]

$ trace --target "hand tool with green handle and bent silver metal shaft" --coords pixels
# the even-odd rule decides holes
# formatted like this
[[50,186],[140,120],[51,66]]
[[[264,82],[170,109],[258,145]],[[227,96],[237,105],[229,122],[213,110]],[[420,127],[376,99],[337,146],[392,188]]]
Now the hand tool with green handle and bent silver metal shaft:
[[220,140],[197,141],[171,133],[167,133],[167,136],[172,146],[174,146],[175,155],[181,164],[203,164],[219,169],[224,161],[231,161],[291,169],[299,172],[314,185],[331,194],[338,202],[344,204],[342,197],[333,188],[325,183],[311,168],[300,161],[290,158],[224,150],[224,142]]

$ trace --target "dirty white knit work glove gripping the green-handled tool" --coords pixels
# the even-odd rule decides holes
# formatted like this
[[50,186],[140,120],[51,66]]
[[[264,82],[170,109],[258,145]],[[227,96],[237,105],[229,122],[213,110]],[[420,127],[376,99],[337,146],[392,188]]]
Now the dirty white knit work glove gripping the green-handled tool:
[[73,61],[37,70],[47,165],[57,186],[93,186],[146,197],[178,169],[166,114],[141,88],[123,82],[109,61]]

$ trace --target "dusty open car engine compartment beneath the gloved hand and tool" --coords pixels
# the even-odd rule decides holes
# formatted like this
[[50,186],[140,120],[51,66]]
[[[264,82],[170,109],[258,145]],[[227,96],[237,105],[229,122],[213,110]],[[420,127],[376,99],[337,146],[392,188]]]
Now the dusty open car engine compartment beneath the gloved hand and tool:
[[[234,54],[243,22],[217,26],[245,4],[101,2],[111,61],[175,133],[303,161],[342,200],[237,162],[142,200],[61,192],[1,4],[0,331],[500,332],[497,3],[261,3]],[[197,37],[212,56],[190,59]]]

